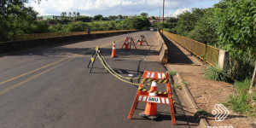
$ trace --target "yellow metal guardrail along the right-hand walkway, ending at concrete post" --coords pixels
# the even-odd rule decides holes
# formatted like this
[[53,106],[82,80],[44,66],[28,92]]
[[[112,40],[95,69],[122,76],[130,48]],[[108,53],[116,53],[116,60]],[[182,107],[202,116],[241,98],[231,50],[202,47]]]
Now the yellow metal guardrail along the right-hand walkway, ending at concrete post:
[[215,66],[215,63],[218,63],[219,50],[207,44],[202,44],[190,38],[185,38],[170,32],[164,31],[166,37],[171,38],[177,44],[183,46],[183,48],[189,50],[191,53],[201,58],[201,60],[207,61],[207,63]]

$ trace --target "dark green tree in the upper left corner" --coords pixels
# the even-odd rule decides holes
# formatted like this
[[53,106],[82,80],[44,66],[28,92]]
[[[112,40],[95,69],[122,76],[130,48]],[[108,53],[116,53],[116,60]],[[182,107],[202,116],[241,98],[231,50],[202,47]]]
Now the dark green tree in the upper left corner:
[[0,41],[6,41],[12,35],[35,31],[38,13],[32,7],[26,7],[27,0],[0,1]]

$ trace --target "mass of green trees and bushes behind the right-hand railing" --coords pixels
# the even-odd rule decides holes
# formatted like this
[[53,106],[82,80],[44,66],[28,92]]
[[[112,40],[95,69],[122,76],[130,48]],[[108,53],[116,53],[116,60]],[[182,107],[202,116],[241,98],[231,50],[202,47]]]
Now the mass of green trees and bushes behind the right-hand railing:
[[[184,11],[177,18],[167,19],[164,26],[167,32],[229,51],[225,75],[231,81],[252,77],[256,62],[255,0],[222,0],[212,8]],[[212,73],[219,73],[218,69],[215,71]],[[220,73],[213,79],[224,77]]]

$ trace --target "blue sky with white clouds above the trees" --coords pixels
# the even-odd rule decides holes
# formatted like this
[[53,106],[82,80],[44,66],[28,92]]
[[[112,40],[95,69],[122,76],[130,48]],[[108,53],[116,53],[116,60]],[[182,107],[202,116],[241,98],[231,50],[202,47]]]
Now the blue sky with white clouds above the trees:
[[[219,0],[166,0],[165,16],[177,16],[192,8],[209,8]],[[162,0],[42,0],[40,4],[30,0],[39,15],[61,15],[61,12],[79,12],[80,15],[162,15]],[[160,12],[161,11],[161,12]]]

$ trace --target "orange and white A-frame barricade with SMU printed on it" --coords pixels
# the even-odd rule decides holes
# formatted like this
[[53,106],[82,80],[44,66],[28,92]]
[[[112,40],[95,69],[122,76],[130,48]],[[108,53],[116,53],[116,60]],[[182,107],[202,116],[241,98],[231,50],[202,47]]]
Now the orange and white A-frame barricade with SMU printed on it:
[[[149,92],[141,90],[143,89],[143,84],[145,82],[145,79],[167,80],[169,79],[169,75],[168,73],[148,72],[148,71],[145,71],[143,73],[143,80],[141,84],[139,84],[139,90],[137,90],[137,95],[135,96],[134,102],[132,103],[131,111],[129,113],[128,119],[132,118],[132,115],[135,109],[137,108],[138,102],[147,102],[147,105],[148,105],[146,107],[145,112],[141,113],[141,115],[146,116],[149,119],[155,119],[157,116],[157,113],[154,112],[156,110],[156,107],[154,106],[154,104],[149,105],[148,103],[159,103],[159,104],[169,105],[169,108],[171,111],[172,125],[176,125],[176,119],[174,115],[174,113],[176,113],[176,109],[174,106],[174,100],[172,96],[172,88],[171,88],[170,81],[166,83],[167,94],[158,93],[153,95],[152,93],[157,92],[155,89],[149,90]],[[151,111],[151,110],[153,111],[153,113],[148,113],[148,111]],[[150,114],[153,114],[153,116]]]

